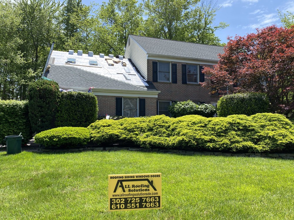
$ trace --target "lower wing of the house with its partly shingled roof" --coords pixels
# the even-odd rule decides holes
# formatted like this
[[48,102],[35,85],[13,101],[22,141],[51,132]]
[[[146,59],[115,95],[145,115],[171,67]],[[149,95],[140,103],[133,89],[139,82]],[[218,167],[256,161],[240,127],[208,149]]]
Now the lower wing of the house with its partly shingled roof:
[[[45,70],[46,69],[46,70]],[[118,56],[81,50],[75,53],[50,53],[44,76],[53,79],[62,90],[88,92],[96,95],[101,115],[156,115],[156,100],[160,91],[146,82],[132,63]],[[150,108],[150,106],[155,106]]]

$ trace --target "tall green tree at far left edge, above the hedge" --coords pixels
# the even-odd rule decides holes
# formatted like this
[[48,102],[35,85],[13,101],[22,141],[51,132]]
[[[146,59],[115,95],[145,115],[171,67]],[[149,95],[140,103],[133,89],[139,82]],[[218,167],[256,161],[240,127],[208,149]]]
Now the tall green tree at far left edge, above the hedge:
[[18,37],[21,26],[19,10],[9,2],[0,2],[0,99],[26,99],[26,86],[32,80],[18,47],[23,42]]

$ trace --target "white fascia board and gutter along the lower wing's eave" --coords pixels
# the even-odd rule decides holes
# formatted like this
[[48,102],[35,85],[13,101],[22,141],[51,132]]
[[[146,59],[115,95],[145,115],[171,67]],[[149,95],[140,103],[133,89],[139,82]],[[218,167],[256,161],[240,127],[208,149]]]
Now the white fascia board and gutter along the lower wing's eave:
[[[61,89],[73,89],[81,92],[88,92],[89,88],[81,87],[62,87]],[[121,89],[99,89],[92,88],[94,95],[105,95],[105,96],[125,96],[125,97],[150,97],[157,98],[160,91],[134,91],[134,90],[121,90]]]

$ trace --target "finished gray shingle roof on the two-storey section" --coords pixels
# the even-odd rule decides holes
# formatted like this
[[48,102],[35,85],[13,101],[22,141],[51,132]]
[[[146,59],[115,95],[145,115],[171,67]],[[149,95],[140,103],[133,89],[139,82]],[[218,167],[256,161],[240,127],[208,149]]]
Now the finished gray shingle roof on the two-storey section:
[[217,61],[219,60],[218,54],[224,53],[223,47],[221,46],[150,38],[137,35],[130,36],[136,40],[148,54]]

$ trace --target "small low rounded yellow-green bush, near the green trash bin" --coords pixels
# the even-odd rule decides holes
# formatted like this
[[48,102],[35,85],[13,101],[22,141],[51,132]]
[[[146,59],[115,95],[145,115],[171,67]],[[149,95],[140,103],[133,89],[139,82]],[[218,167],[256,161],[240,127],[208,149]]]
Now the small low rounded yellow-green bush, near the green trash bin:
[[35,135],[35,143],[49,148],[71,148],[89,142],[90,133],[83,127],[60,127],[42,131]]

